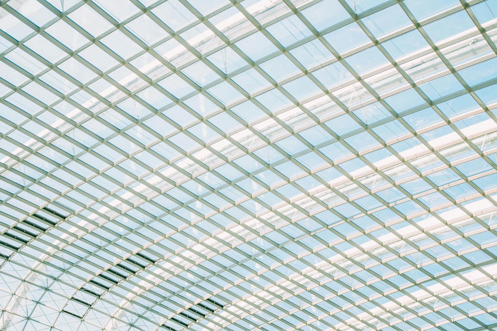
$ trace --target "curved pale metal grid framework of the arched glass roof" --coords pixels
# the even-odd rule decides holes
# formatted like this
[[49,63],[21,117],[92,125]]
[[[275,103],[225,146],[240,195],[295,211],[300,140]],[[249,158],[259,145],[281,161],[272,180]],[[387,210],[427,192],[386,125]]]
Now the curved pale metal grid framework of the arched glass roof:
[[[355,1],[328,1],[342,6],[348,17],[321,31],[311,23],[309,11],[313,5],[326,3],[320,4],[320,0],[267,0],[258,4],[247,4],[248,0],[216,1],[221,5],[205,16],[201,14],[203,9],[196,7],[200,2],[169,0],[196,17],[177,31],[154,14],[155,8],[167,5],[166,0],[150,1],[149,6],[129,0],[137,9],[123,21],[117,21],[98,1],[75,0],[63,11],[55,0],[31,1],[25,5],[39,3],[54,18],[38,27],[14,9],[19,4],[16,0],[0,1],[4,15],[15,17],[33,30],[16,40],[0,27],[0,37],[12,44],[0,53],[0,61],[25,77],[16,85],[0,73],[0,83],[7,90],[0,97],[4,107],[0,109],[0,329],[451,331],[473,326],[471,330],[479,331],[497,327],[497,320],[492,322],[497,318],[493,313],[497,306],[489,304],[496,293],[497,257],[492,249],[495,241],[488,240],[496,228],[493,213],[497,200],[493,197],[497,190],[492,187],[492,175],[497,173],[497,163],[492,158],[497,152],[497,124],[469,135],[458,127],[481,114],[497,122],[492,112],[495,106],[478,96],[479,91],[495,84],[497,77],[470,86],[459,73],[496,57],[496,38],[492,37],[497,34],[497,20],[482,26],[473,10],[476,5],[488,4],[486,1],[461,0],[459,5],[420,21],[411,12],[410,1],[388,0],[357,13],[350,5],[353,2],[355,10],[360,9]],[[260,16],[251,11],[257,5],[266,6],[268,15],[274,10],[273,17],[261,24],[257,20]],[[92,36],[75,23],[72,19],[82,6],[94,10],[109,28]],[[394,6],[401,8],[411,23],[377,39],[364,22]],[[229,39],[211,19],[232,8],[243,15],[243,22],[248,22],[251,29]],[[475,28],[435,44],[425,27],[456,13],[467,14]],[[164,29],[165,37],[149,45],[127,28],[126,24],[142,15]],[[277,29],[275,23],[286,22],[290,17],[298,19],[309,35],[298,39],[294,36],[297,41],[283,47],[269,31]],[[86,39],[84,45],[72,50],[46,31],[59,21],[80,33]],[[351,23],[357,24],[370,41],[340,54],[325,36]],[[206,48],[214,38],[221,46],[199,52],[182,37],[199,24],[212,32],[210,39],[204,35]],[[127,59],[105,46],[105,37],[117,30],[137,45],[138,52]],[[411,31],[418,31],[429,49],[396,62],[384,45]],[[261,32],[277,51],[252,61],[237,42],[255,32]],[[51,63],[25,45],[37,35],[65,55]],[[469,60],[453,66],[450,48],[471,38],[491,52],[479,56],[472,44],[463,46],[457,49],[457,55]],[[174,61],[155,50],[172,40],[184,48],[183,56],[190,60],[175,66]],[[321,43],[329,55],[306,67],[292,51],[312,42]],[[93,66],[84,60],[80,53],[89,46],[104,51],[114,65],[100,71],[98,64]],[[209,56],[224,48],[235,52],[246,64],[223,72],[209,61]],[[369,49],[379,50],[387,61],[361,75],[347,59]],[[15,64],[18,51],[41,63],[39,72],[31,74],[29,68]],[[152,79],[132,65],[144,54],[153,57],[158,70],[165,68],[163,74]],[[411,64],[430,54],[444,68],[434,72],[435,68],[428,64],[419,69],[424,70],[421,78],[413,78]],[[269,61],[278,56],[288,59],[298,71],[288,72],[281,80],[272,77],[263,67],[274,66]],[[78,72],[59,67],[70,59],[90,70],[92,78],[82,83],[71,75]],[[218,78],[200,86],[185,70],[198,64]],[[327,88],[313,73],[334,64],[343,66],[350,78]],[[120,68],[134,75],[131,82],[138,87],[131,89],[132,84],[123,86],[112,78]],[[254,93],[232,79],[252,68],[269,83]],[[393,74],[389,75],[388,70],[403,83],[389,82]],[[51,86],[46,78],[51,72],[73,84],[72,90],[64,93]],[[172,75],[193,91],[178,99],[174,92],[161,87],[161,82]],[[455,77],[463,89],[431,100],[419,87],[446,75]],[[299,100],[285,89],[285,84],[304,76],[318,90]],[[95,91],[98,81],[109,84],[119,98],[109,100]],[[222,83],[228,83],[239,94],[235,101],[225,104],[212,92]],[[51,92],[56,101],[44,104],[27,92],[28,84],[36,84],[40,93]],[[388,84],[394,86],[388,89]],[[167,98],[167,105],[154,108],[147,103],[141,93],[150,86]],[[424,103],[396,112],[388,97],[408,90],[415,91]],[[91,106],[95,111],[77,102],[81,91],[94,100]],[[271,110],[261,97],[276,91],[288,102]],[[203,116],[198,109],[189,107],[188,101],[197,95],[212,103],[215,110]],[[39,110],[28,114],[15,106],[18,96],[36,104]],[[470,96],[479,108],[449,118],[439,105],[461,96]],[[148,115],[133,116],[119,108],[127,99],[139,104]],[[57,111],[63,101],[84,119],[76,122]],[[316,101],[328,104],[329,111],[318,113],[312,105]],[[246,122],[237,113],[236,106],[242,103],[250,103],[264,115]],[[372,104],[384,107],[387,115],[367,124],[355,111],[367,111],[364,107]],[[175,106],[179,108],[172,108]],[[442,121],[416,131],[406,118],[428,107]],[[175,109],[183,112],[180,118],[184,121],[187,116],[192,120],[174,122],[168,110]],[[11,112],[21,118],[18,123],[12,122]],[[64,121],[65,127],[51,126],[46,114]],[[342,115],[351,119],[357,129],[337,134],[327,125]],[[121,123],[111,123],[116,116],[120,116]],[[222,116],[232,122],[221,123]],[[171,129],[155,131],[152,122],[159,119]],[[298,121],[302,124],[296,124]],[[380,136],[385,125],[396,125],[404,134],[385,141]],[[196,135],[198,126],[214,138],[208,133]],[[44,133],[29,129],[33,127]],[[99,135],[102,128],[110,133]],[[327,134],[323,142],[313,144],[299,134],[311,128],[320,128],[323,135]],[[450,128],[454,134],[443,135],[443,143],[434,145],[426,133],[439,128]],[[363,133],[374,144],[356,150],[353,138]],[[91,141],[89,145],[82,138],[85,136]],[[23,137],[27,137],[25,141]],[[303,147],[297,152],[289,151],[282,144],[287,137],[296,138],[293,144]],[[131,147],[118,147],[118,139],[125,139]],[[416,150],[412,146],[411,153],[399,152],[397,143],[409,139],[415,139],[421,147]],[[487,140],[491,141],[488,145]],[[72,147],[72,151],[64,146]],[[331,146],[338,146],[343,156],[330,154]],[[50,150],[52,154],[47,154]],[[372,161],[372,153],[379,151],[391,155],[387,163]],[[269,153],[276,153],[277,159],[271,159]],[[240,159],[243,156],[245,159]],[[311,157],[317,157],[320,163],[307,163]],[[458,168],[477,159],[489,168],[468,176]],[[130,161],[134,163],[128,165]],[[225,164],[228,166],[223,168]],[[420,170],[421,165],[426,169]],[[294,170],[290,173],[284,166]],[[326,171],[331,169],[340,176],[336,180],[327,178]],[[459,179],[443,185],[429,179],[430,174],[446,169]],[[125,176],[124,180],[112,174]],[[424,191],[412,193],[403,185],[418,179],[427,187]],[[479,186],[479,179],[490,181],[491,188]],[[458,185],[467,185],[474,192],[456,199],[447,190]],[[389,192],[401,198],[387,200]],[[384,195],[387,199],[382,198]],[[363,202],[365,197],[373,198],[374,204]],[[410,203],[417,209],[404,214],[403,208]],[[387,210],[390,214],[385,219],[382,215]],[[450,210],[455,216],[447,218]],[[365,216],[369,224],[364,223]]]

